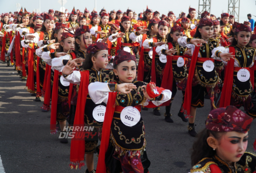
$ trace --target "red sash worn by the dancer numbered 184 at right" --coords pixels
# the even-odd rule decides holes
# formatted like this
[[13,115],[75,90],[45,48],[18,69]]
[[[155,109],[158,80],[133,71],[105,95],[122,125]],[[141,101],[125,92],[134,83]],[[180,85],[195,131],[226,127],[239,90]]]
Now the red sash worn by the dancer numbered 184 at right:
[[[229,53],[232,53],[232,55],[235,55],[236,50],[234,47],[229,47]],[[230,105],[230,99],[232,94],[232,84],[233,84],[233,71],[239,71],[240,67],[234,67],[234,59],[230,58],[230,60],[227,62],[227,66],[225,71],[229,72],[225,74],[224,84],[221,92],[221,100],[220,100],[220,107],[226,107]],[[254,85],[254,77],[252,78],[253,70],[250,70],[249,68],[243,68],[247,69],[250,72],[250,81],[252,85]]]

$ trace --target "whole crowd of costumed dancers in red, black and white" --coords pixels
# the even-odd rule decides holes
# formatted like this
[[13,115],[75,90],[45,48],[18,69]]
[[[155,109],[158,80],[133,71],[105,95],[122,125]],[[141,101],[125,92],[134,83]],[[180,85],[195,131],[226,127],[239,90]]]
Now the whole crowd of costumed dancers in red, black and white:
[[[153,108],[160,116],[162,107],[173,123],[170,110],[180,90],[178,116],[190,136],[197,135],[197,108],[205,98],[211,103],[191,172],[254,171],[256,157],[245,150],[256,117],[256,35],[248,21],[240,24],[228,13],[219,21],[207,11],[200,19],[196,9],[188,12],[160,17],[146,8],[139,20],[131,9],[2,14],[1,60],[27,81],[35,101],[44,97],[42,112],[51,111],[51,134],[59,124],[61,143],[68,143],[68,121],[76,134],[71,168],[81,168],[85,155],[86,172],[95,172],[98,153],[97,172],[148,172],[140,112]],[[97,133],[94,140],[78,135],[84,129]]]

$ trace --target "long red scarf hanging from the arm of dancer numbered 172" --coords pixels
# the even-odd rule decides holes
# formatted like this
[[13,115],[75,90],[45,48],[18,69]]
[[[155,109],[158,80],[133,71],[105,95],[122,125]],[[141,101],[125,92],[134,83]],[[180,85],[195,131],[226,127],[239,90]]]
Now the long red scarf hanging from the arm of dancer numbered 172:
[[[79,102],[77,102],[76,105],[76,114],[75,114],[75,120],[74,120],[74,129],[76,126],[79,126],[80,128],[84,126],[84,108],[86,107],[86,100],[88,95],[88,85],[89,85],[89,76],[90,73],[88,70],[80,72],[81,79],[80,79],[80,86],[79,86],[79,92],[78,92],[78,98]],[[79,129],[80,129],[79,128]],[[84,160],[84,150],[86,148],[85,141],[83,137],[79,137],[78,134],[81,134],[82,131],[76,131],[76,134],[74,138],[71,140],[71,148],[70,148],[70,166],[71,169],[77,168],[79,165],[79,168],[84,166],[83,160]],[[82,138],[82,139],[81,139]]]

